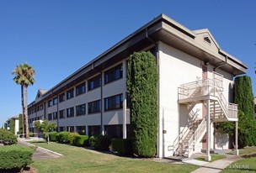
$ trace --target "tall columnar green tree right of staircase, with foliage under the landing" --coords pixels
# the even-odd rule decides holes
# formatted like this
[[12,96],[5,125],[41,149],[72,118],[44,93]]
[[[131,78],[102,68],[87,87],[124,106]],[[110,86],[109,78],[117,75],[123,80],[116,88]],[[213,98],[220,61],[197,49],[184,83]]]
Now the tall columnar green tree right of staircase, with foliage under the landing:
[[[249,76],[235,78],[234,102],[238,104],[238,146],[243,148],[256,145],[256,122],[254,120],[252,81]],[[216,128],[230,134],[234,139],[235,124],[233,122],[216,123]]]

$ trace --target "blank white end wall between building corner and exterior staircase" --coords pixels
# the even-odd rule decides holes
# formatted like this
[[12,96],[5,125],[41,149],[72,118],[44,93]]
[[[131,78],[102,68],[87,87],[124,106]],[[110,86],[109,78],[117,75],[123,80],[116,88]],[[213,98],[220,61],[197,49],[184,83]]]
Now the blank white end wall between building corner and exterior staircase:
[[[201,61],[195,57],[159,42],[159,156],[173,155],[168,149],[173,140],[188,122],[187,107],[178,104],[178,87],[190,81],[201,79]],[[201,109],[201,105],[196,108]],[[180,108],[180,115],[179,115]],[[201,116],[201,111],[199,112]],[[164,119],[164,123],[163,123]],[[166,130],[166,134],[163,134]],[[163,142],[164,141],[164,142]],[[164,144],[162,144],[164,143]],[[164,146],[164,149],[161,149]]]

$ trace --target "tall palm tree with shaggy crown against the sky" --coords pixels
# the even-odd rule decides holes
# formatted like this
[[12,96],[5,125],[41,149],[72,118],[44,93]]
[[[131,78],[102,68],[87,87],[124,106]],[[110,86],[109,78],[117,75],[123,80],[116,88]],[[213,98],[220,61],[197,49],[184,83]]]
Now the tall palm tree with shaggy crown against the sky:
[[29,139],[29,122],[28,122],[28,87],[35,83],[34,75],[35,70],[32,66],[29,66],[27,63],[20,64],[16,66],[13,70],[13,81],[15,81],[18,85],[21,86],[21,106],[23,111],[23,119],[24,119],[24,134],[26,139]]

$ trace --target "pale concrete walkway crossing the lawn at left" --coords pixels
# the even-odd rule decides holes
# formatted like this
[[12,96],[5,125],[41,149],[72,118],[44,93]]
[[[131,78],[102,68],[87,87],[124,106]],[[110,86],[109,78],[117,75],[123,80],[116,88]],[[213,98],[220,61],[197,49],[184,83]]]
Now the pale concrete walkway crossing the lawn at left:
[[[35,146],[34,144],[29,144],[25,140],[20,140],[20,139],[18,141],[18,144],[25,145],[25,146]],[[32,160],[54,159],[54,158],[59,158],[61,156],[62,156],[61,154],[51,151],[49,149],[37,147],[32,156]]]

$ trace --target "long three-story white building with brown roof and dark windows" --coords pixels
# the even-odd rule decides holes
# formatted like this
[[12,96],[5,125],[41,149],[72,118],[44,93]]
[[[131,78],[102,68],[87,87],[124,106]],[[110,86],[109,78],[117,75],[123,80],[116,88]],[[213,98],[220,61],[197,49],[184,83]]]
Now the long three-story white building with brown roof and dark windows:
[[228,136],[216,133],[214,123],[237,124],[233,77],[247,66],[221,50],[208,29],[189,30],[164,14],[50,90],[39,90],[29,104],[30,130],[33,121],[48,119],[58,131],[129,137],[126,66],[141,50],[156,56],[159,75],[157,156],[189,157],[206,149],[211,160],[211,148],[227,149]]

